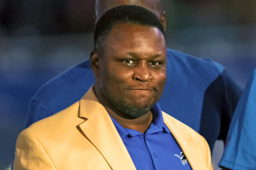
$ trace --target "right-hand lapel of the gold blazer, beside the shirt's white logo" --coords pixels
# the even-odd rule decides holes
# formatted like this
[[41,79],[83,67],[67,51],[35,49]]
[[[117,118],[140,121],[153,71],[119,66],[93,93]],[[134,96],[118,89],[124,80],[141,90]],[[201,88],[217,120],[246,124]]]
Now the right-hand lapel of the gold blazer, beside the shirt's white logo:
[[197,140],[190,135],[187,129],[180,128],[182,127],[178,124],[180,122],[174,121],[173,117],[163,113],[163,118],[164,123],[170,129],[182,152],[185,154],[191,168],[193,170],[205,169],[207,167],[205,155],[202,155],[202,148]]

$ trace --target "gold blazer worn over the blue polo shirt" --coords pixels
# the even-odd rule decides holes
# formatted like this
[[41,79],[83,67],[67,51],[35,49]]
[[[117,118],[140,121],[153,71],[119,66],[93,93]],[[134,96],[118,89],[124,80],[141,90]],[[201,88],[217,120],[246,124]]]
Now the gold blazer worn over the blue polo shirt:
[[[162,112],[193,170],[212,170],[206,140]],[[72,106],[20,133],[14,170],[135,170],[132,159],[92,87]],[[171,169],[171,167],[170,167]]]

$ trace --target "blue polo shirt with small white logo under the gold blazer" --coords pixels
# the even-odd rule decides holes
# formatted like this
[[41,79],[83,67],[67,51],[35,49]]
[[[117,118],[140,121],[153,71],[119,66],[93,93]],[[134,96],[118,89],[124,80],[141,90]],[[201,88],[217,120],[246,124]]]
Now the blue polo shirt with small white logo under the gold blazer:
[[111,116],[137,170],[191,170],[186,157],[164,124],[158,104],[151,109],[153,120],[145,134],[122,127]]

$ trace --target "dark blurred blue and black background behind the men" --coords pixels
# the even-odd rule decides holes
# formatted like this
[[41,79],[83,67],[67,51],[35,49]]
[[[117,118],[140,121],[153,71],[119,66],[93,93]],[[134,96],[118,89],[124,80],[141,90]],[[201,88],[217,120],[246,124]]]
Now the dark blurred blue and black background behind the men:
[[[224,65],[244,87],[256,68],[256,0],[162,0],[168,47]],[[0,169],[10,169],[29,100],[93,48],[94,0],[0,0]]]

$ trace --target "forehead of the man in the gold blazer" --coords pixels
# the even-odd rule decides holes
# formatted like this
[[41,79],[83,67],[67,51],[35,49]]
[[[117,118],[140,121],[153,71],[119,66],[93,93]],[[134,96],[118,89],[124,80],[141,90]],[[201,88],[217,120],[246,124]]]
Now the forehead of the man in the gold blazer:
[[[165,53],[163,33],[156,27],[136,23],[116,23],[107,35],[105,52]],[[164,54],[163,54],[164,55]]]

